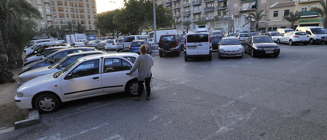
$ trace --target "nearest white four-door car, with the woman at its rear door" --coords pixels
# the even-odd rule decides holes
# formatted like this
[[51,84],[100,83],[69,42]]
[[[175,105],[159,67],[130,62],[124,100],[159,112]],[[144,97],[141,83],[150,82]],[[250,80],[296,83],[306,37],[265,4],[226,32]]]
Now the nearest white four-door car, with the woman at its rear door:
[[[14,100],[21,109],[34,107],[41,113],[51,113],[61,102],[124,91],[137,95],[137,72],[127,75],[134,63],[120,54],[79,58],[62,71],[27,81],[17,89]],[[129,53],[128,57],[137,56]]]

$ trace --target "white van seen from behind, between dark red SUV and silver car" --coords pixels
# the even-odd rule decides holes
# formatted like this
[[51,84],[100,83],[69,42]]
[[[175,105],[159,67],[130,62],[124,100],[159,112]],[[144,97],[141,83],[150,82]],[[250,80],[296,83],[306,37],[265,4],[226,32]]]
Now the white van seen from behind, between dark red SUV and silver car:
[[186,34],[184,40],[184,59],[191,57],[208,57],[212,60],[212,44],[208,32],[195,32]]

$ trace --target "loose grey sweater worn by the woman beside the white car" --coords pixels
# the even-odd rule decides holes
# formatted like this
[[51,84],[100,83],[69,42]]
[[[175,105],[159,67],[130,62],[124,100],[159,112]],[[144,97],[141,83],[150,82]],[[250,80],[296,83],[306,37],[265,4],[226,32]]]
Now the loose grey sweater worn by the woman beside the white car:
[[153,58],[148,54],[141,54],[136,58],[132,70],[129,74],[132,74],[138,69],[137,80],[144,81],[144,79],[150,77],[151,67],[153,66]]

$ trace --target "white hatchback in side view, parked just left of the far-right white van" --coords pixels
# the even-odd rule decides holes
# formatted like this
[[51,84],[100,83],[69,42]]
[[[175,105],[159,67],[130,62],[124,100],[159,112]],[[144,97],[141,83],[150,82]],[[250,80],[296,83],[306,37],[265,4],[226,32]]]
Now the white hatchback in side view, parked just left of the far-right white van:
[[309,40],[310,40],[309,35],[306,34],[305,32],[291,31],[278,37],[277,44],[288,43],[289,45],[294,45],[296,43],[301,43],[306,45],[309,43]]

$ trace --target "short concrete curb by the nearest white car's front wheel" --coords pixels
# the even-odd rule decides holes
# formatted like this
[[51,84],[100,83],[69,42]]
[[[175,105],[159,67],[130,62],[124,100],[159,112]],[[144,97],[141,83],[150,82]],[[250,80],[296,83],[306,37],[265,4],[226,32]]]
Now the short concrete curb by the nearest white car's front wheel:
[[40,114],[38,110],[29,110],[28,119],[15,122],[15,129],[23,128],[40,122]]

